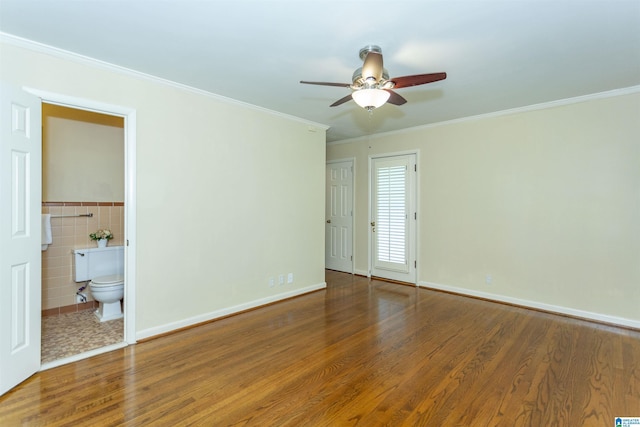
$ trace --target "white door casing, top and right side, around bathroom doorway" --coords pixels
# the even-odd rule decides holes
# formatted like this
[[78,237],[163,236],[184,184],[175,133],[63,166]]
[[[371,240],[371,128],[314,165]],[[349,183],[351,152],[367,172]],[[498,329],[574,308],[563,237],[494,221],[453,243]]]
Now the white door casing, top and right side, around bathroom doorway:
[[[87,110],[124,119],[124,222],[125,222],[125,287],[124,287],[124,340],[136,342],[136,110],[89,99],[24,87],[41,102],[77,110]],[[38,243],[39,245],[40,243]],[[47,366],[47,368],[51,368]]]

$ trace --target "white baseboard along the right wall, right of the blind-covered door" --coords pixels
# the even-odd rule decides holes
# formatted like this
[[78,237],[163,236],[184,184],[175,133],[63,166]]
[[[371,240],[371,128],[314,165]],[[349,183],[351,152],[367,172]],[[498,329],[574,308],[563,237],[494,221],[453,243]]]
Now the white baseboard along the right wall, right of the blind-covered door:
[[460,295],[467,295],[476,298],[483,298],[491,301],[502,302],[507,304],[513,304],[525,308],[532,308],[535,310],[542,310],[550,313],[562,314],[571,317],[577,317],[581,319],[593,320],[600,323],[608,323],[612,325],[640,329],[640,321],[627,319],[624,317],[610,316],[608,314],[594,313],[591,311],[577,310],[570,307],[557,306],[552,304],[545,304],[536,301],[529,301],[519,298],[512,298],[505,295],[492,294],[489,292],[474,291],[465,288],[458,288],[455,286],[441,285],[439,283],[430,282],[418,282],[418,286],[423,288],[437,289],[446,292],[453,292]]

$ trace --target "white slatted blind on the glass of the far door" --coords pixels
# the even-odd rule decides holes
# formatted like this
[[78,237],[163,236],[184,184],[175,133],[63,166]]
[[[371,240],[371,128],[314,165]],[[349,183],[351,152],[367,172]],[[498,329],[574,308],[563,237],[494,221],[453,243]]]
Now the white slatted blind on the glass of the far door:
[[407,167],[406,165],[379,167],[377,184],[377,257],[378,261],[406,264],[407,262]]

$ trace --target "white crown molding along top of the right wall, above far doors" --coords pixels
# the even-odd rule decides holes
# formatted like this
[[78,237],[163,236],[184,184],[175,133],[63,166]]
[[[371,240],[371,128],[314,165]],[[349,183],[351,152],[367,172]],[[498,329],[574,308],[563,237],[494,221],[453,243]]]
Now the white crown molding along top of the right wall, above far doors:
[[491,113],[478,114],[478,115],[475,115],[475,116],[461,117],[459,119],[445,120],[443,122],[429,123],[427,125],[414,126],[414,127],[410,127],[410,128],[398,129],[398,130],[393,130],[393,131],[383,132],[383,133],[376,133],[376,134],[373,134],[373,135],[364,135],[364,136],[359,136],[357,138],[342,139],[342,140],[339,140],[339,141],[330,141],[330,142],[327,142],[327,145],[340,145],[340,144],[349,144],[349,143],[355,143],[355,142],[370,141],[372,139],[385,138],[385,137],[388,137],[388,136],[400,135],[400,134],[405,134],[405,133],[410,133],[410,132],[418,132],[418,131],[421,131],[423,129],[430,129],[430,128],[435,128],[435,127],[439,127],[439,126],[448,126],[448,125],[453,125],[453,124],[458,124],[458,123],[472,122],[472,121],[476,121],[476,120],[483,120],[483,119],[489,119],[489,118],[494,118],[494,117],[509,116],[509,115],[512,115],[512,114],[527,113],[527,112],[530,112],[530,111],[545,110],[545,109],[548,109],[548,108],[561,107],[561,106],[571,105],[571,104],[579,104],[581,102],[593,101],[593,100],[597,100],[597,99],[605,99],[605,98],[613,98],[613,97],[616,97],[616,96],[631,95],[631,94],[638,93],[638,92],[640,92],[640,85],[625,87],[625,88],[621,88],[621,89],[613,89],[613,90],[609,90],[609,91],[605,91],[605,92],[597,92],[597,93],[592,93],[592,94],[589,94],[589,95],[576,96],[576,97],[573,97],[573,98],[565,98],[565,99],[558,99],[558,100],[555,100],[555,101],[542,102],[542,103],[539,103],[539,104],[532,104],[532,105],[527,105],[527,106],[524,106],[524,107],[517,107],[517,108],[510,108],[510,109],[507,109],[507,110],[494,111],[494,112],[491,112]]

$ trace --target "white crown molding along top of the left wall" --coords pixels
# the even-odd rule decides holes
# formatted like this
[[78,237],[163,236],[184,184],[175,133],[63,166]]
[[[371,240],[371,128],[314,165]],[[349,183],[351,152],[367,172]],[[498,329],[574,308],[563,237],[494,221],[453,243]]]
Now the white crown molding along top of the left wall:
[[99,59],[91,58],[89,56],[84,56],[79,53],[71,52],[68,50],[60,49],[57,47],[53,47],[50,45],[46,45],[44,43],[35,42],[33,40],[25,39],[22,37],[14,36],[13,34],[3,33],[0,31],[0,42],[4,42],[13,46],[21,47],[24,49],[29,49],[38,53],[44,53],[47,55],[54,56],[56,58],[66,59],[75,63],[88,65],[92,67],[97,67],[103,70],[112,71],[118,74],[124,74],[130,77],[147,80],[153,83],[159,83],[165,86],[174,87],[177,89],[182,89],[187,92],[195,93],[198,95],[203,95],[208,98],[213,98],[218,101],[226,102],[229,104],[239,105],[241,107],[249,108],[256,111],[261,111],[263,113],[271,114],[274,116],[279,116],[288,120],[293,120],[299,123],[307,124],[308,126],[316,127],[326,131],[330,126],[313,122],[311,120],[303,119],[300,117],[292,116],[289,114],[281,113],[279,111],[270,110],[268,108],[259,107],[257,105],[249,104],[247,102],[238,101],[237,99],[228,98],[226,96],[218,95],[213,92],[208,92],[206,90],[197,89],[192,86],[188,86],[182,83],[177,83],[171,80],[163,79],[162,77],[156,77],[151,74],[146,74],[140,71],[135,71],[129,68],[121,67],[119,65],[111,64],[106,61],[101,61]]

